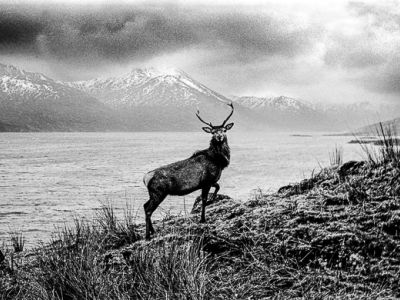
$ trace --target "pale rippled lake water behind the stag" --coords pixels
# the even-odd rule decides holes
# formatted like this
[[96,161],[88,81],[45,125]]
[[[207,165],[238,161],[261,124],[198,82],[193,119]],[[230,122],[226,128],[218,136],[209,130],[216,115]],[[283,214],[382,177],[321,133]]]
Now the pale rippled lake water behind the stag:
[[[345,160],[361,159],[360,148],[348,140],[320,133],[233,132],[220,193],[246,200],[258,188],[273,191],[301,180],[329,165],[336,145]],[[140,221],[147,200],[143,174],[187,158],[208,142],[204,133],[0,133],[0,243],[14,230],[29,245],[48,240],[72,217],[92,218],[105,201],[120,212],[133,206]],[[155,217],[190,210],[198,195],[168,197]]]

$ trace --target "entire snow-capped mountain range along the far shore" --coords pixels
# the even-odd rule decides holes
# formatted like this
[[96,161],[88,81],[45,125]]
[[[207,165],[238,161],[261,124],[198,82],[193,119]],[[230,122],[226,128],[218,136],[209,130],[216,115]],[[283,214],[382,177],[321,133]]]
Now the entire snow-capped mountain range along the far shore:
[[176,69],[61,82],[0,64],[0,131],[199,130],[197,109],[216,125],[231,101],[236,129],[339,131],[373,123],[365,104],[326,107],[285,96],[228,99]]

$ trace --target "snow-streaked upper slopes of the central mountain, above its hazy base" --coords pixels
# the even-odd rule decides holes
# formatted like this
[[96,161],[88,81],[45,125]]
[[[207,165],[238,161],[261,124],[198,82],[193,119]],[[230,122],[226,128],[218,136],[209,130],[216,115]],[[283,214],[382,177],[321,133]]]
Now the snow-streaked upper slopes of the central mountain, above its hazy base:
[[[193,106],[229,100],[177,69],[134,69],[121,77],[69,83],[113,107]],[[203,98],[203,99],[202,99]]]

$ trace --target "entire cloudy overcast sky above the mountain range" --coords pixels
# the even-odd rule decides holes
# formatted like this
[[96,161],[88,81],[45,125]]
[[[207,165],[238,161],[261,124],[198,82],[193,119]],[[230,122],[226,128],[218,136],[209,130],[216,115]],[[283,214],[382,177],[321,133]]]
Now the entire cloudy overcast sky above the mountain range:
[[176,67],[225,95],[398,103],[400,2],[0,0],[0,62],[59,80]]

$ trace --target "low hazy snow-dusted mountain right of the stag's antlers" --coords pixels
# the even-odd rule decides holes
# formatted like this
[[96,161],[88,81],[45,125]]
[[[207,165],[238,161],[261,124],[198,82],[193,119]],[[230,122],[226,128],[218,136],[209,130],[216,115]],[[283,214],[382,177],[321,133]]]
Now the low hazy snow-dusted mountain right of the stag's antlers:
[[368,102],[312,104],[301,99],[279,97],[232,97],[238,104],[261,116],[267,127],[351,131],[379,120],[395,118],[399,106],[377,106]]

